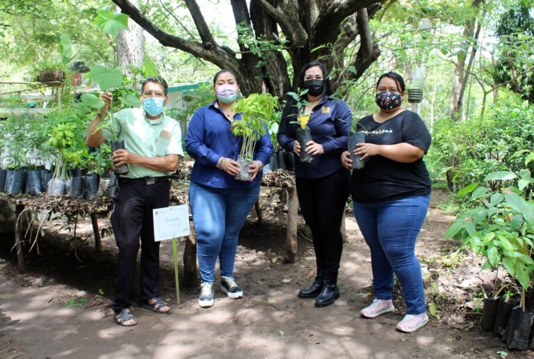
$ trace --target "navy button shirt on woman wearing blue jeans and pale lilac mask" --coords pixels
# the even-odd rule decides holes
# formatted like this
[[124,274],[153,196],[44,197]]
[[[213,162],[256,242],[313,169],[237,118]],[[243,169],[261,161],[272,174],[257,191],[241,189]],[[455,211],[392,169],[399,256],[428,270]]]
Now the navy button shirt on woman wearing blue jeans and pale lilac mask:
[[[241,113],[234,115],[234,121],[238,120],[241,120]],[[250,189],[261,182],[261,172],[254,181],[245,182],[217,168],[220,157],[237,160],[243,145],[243,137],[234,136],[230,125],[232,122],[216,106],[216,101],[193,113],[185,141],[187,153],[195,159],[191,180],[218,189]],[[256,143],[253,158],[267,164],[273,154],[273,144],[267,127],[265,129],[266,133]]]

